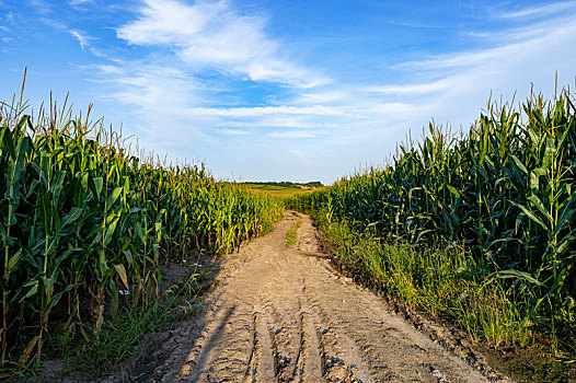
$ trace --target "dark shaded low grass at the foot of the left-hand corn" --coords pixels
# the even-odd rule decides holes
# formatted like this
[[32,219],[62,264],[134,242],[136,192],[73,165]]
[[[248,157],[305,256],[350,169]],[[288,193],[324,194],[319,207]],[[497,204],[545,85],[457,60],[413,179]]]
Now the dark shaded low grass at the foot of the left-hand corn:
[[204,268],[194,264],[184,271],[187,276],[170,283],[159,300],[147,306],[125,304],[122,312],[108,313],[100,334],[88,326],[77,327],[82,337],[56,332],[47,346],[64,359],[61,374],[80,370],[82,378],[88,378],[117,370],[123,361],[140,352],[138,345],[143,337],[197,314],[215,269],[216,264]]

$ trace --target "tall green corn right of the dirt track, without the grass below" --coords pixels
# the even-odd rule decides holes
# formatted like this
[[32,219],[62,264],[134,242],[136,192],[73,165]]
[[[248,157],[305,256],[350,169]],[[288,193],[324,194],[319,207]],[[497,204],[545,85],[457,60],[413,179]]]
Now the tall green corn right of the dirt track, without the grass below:
[[486,280],[528,302],[527,323],[554,338],[576,322],[575,173],[576,112],[564,90],[553,101],[532,94],[520,109],[488,102],[466,134],[430,124],[385,166],[290,204],[392,241],[463,241]]

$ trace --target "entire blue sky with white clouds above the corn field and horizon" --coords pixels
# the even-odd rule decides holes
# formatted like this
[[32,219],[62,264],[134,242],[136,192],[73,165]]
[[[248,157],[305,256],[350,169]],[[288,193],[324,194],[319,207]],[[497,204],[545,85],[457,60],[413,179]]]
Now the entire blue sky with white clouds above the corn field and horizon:
[[331,183],[492,92],[575,85],[576,1],[0,0],[0,100],[94,103],[220,178]]

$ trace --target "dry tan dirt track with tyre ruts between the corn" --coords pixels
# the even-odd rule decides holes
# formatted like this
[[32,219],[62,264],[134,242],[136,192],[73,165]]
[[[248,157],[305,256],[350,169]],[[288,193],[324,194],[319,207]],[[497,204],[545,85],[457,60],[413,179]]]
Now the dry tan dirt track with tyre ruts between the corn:
[[[300,222],[300,223],[298,223]],[[286,233],[297,229],[297,244]],[[338,276],[319,252],[309,216],[287,211],[275,230],[229,255],[205,313],[157,339],[106,382],[486,382]]]

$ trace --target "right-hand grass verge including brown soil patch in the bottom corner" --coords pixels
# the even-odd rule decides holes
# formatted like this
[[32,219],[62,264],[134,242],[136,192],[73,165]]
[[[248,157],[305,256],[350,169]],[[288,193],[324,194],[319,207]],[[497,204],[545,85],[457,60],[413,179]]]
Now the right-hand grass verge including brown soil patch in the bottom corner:
[[[534,330],[518,297],[458,244],[415,246],[387,242],[369,229],[313,214],[321,235],[357,279],[434,321],[465,330],[489,363],[519,382],[575,382],[574,353],[554,353]],[[571,346],[566,345],[565,349]]]

